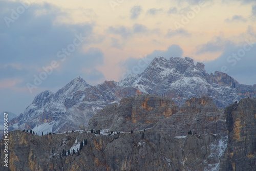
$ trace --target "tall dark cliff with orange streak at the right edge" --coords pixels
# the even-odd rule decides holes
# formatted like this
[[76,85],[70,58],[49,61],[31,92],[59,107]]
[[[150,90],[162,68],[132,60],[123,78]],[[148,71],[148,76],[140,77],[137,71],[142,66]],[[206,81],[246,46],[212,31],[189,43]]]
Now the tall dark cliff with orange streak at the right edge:
[[256,99],[244,98],[225,114],[228,147],[221,170],[256,170]]

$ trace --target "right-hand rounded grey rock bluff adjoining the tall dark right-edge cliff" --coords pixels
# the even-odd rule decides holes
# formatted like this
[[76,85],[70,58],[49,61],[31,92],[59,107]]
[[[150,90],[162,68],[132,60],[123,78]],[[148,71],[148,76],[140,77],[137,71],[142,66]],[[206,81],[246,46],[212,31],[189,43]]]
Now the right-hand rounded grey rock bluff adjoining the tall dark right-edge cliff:
[[211,98],[191,98],[181,106],[179,112],[159,120],[154,128],[173,136],[197,134],[226,134],[223,110],[216,107]]

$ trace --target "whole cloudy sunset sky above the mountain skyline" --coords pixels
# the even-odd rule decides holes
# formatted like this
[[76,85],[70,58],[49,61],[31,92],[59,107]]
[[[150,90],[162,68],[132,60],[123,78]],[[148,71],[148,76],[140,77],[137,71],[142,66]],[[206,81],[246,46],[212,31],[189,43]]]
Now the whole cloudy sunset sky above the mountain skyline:
[[23,113],[77,76],[92,86],[156,56],[256,83],[254,0],[0,0],[0,112]]

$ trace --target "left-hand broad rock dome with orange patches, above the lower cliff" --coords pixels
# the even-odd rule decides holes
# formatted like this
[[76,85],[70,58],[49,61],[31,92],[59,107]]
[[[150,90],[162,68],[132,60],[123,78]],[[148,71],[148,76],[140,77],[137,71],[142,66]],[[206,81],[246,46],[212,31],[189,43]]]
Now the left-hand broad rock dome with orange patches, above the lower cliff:
[[111,129],[130,132],[152,127],[160,119],[172,116],[179,109],[170,98],[157,95],[135,95],[107,106],[89,121],[89,130]]

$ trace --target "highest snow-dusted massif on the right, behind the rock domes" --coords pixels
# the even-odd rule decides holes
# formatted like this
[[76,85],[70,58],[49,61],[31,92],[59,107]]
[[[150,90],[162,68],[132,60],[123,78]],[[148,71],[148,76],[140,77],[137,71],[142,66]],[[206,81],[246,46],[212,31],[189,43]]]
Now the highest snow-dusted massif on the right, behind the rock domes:
[[193,59],[156,57],[145,71],[121,80],[119,86],[135,87],[143,93],[171,97],[181,105],[187,98],[210,96],[219,107],[255,96],[256,85],[246,86],[225,73],[208,74],[204,64]]

